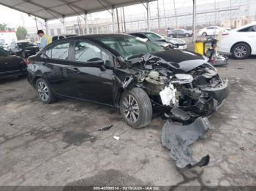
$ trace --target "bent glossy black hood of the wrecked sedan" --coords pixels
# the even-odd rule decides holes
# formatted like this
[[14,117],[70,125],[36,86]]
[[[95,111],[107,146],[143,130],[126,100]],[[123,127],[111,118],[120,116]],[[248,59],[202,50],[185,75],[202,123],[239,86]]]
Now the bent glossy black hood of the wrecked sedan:
[[187,50],[166,50],[152,55],[167,62],[178,64],[178,69],[185,72],[191,71],[207,62],[201,55]]

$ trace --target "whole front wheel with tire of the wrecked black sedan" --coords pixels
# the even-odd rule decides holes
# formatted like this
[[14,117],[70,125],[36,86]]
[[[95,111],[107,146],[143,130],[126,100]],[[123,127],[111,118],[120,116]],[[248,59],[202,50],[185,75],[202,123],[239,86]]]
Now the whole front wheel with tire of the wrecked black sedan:
[[152,104],[147,93],[138,87],[124,91],[120,100],[120,112],[132,128],[143,128],[148,125],[152,118]]

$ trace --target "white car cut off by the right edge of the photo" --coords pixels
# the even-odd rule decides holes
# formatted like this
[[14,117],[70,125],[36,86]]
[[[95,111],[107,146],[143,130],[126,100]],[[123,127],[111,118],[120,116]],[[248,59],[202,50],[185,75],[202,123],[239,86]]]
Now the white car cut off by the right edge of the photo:
[[256,22],[225,31],[219,42],[219,52],[231,53],[236,59],[256,55]]

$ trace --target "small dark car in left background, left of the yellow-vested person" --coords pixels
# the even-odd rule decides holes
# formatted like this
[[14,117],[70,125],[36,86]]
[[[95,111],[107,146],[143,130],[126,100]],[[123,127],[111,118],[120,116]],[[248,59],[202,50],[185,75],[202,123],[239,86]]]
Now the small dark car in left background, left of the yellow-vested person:
[[35,55],[39,51],[39,47],[31,42],[12,42],[7,50],[12,55],[27,58],[30,55]]

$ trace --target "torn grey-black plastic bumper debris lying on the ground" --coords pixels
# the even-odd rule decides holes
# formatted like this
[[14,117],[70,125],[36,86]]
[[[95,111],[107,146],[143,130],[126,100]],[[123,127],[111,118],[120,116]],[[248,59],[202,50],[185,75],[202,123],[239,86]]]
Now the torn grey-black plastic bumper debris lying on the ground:
[[170,157],[175,160],[178,168],[193,168],[195,166],[208,165],[210,157],[206,155],[200,161],[192,158],[192,150],[189,145],[202,137],[210,128],[210,122],[206,117],[198,117],[189,125],[177,125],[174,122],[165,122],[162,128],[162,145],[170,149]]

